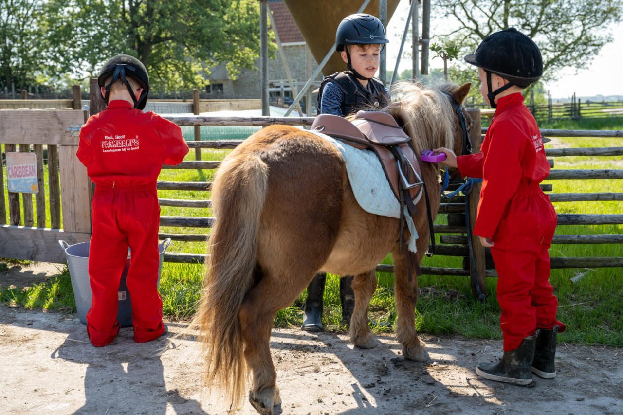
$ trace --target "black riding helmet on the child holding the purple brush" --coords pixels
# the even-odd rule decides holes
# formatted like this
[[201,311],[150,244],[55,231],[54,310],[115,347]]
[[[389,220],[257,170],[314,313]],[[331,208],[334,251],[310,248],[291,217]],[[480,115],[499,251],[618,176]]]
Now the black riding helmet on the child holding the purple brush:
[[[464,59],[487,73],[487,97],[493,108],[497,106],[494,100],[498,93],[513,85],[526,88],[543,75],[543,58],[539,47],[514,27],[485,37],[476,52],[466,55]],[[510,82],[492,92],[491,74]]]

